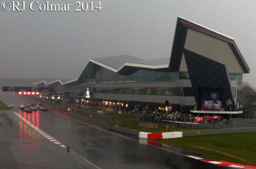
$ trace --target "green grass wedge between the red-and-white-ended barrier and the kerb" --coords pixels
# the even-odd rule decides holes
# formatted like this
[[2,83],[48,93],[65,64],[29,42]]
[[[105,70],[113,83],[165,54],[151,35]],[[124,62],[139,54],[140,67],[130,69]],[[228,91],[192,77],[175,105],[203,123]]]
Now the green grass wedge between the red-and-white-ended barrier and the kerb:
[[188,151],[211,155],[211,157],[204,158],[213,161],[227,161],[256,166],[255,138],[256,133],[234,133],[190,136],[155,141],[186,149]]

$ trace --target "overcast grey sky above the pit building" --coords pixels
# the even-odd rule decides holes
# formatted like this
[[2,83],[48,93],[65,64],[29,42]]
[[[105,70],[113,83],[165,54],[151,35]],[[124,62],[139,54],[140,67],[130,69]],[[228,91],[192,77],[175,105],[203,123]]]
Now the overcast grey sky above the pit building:
[[24,11],[0,9],[0,78],[75,79],[90,58],[170,57],[181,16],[233,37],[251,69],[244,81],[256,86],[254,0],[93,0],[94,8],[101,2],[101,11],[75,11],[77,1],[49,0],[71,4],[70,11],[32,11],[32,0]]

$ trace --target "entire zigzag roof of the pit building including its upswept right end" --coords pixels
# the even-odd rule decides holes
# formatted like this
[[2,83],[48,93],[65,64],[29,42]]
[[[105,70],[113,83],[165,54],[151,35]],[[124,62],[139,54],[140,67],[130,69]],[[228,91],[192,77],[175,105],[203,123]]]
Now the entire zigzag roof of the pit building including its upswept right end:
[[187,72],[184,50],[226,65],[229,73],[249,73],[249,67],[232,37],[178,16],[171,57],[169,58],[143,60],[131,55],[93,58],[90,59],[86,68],[76,80],[65,83],[61,80],[51,83],[42,81],[35,83],[35,85],[70,86],[84,83],[85,81],[82,78],[85,77],[83,75],[89,70],[88,65],[91,64],[96,64],[99,68],[107,68],[121,75],[130,75],[141,68],[168,72]]

